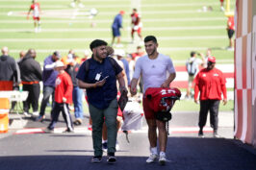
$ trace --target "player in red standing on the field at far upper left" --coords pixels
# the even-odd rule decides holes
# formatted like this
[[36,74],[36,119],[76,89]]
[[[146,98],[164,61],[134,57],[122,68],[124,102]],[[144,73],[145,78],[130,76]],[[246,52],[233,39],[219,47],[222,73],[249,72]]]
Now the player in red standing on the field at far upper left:
[[33,20],[34,20],[34,27],[35,27],[35,33],[38,33],[41,31],[40,29],[40,4],[37,2],[37,0],[32,1],[32,5],[30,6],[27,19],[29,19],[30,12],[33,11]]

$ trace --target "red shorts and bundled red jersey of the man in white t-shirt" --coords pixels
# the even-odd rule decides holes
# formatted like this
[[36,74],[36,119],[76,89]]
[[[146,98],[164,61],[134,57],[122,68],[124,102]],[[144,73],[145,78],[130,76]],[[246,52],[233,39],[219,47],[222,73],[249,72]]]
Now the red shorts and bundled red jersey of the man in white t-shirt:
[[174,102],[179,99],[178,88],[149,87],[143,98],[143,109],[147,119],[155,118],[155,112],[169,111]]

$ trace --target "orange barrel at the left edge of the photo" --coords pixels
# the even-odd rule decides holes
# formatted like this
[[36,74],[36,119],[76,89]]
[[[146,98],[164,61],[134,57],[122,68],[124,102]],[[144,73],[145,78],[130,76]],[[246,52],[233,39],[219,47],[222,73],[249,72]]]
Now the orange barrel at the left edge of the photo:
[[0,98],[0,134],[8,133],[9,105],[8,98]]

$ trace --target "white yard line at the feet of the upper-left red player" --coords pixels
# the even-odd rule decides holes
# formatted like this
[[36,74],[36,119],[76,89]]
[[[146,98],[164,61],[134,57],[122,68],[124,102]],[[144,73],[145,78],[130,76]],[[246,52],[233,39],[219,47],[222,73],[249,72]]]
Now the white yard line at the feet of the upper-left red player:
[[[192,26],[192,27],[146,27],[143,31],[181,31],[181,30],[223,30],[225,26]],[[32,29],[1,29],[1,33],[15,33],[15,32],[33,32]],[[111,28],[66,28],[66,29],[42,29],[46,33],[60,33],[60,32],[111,32]]]

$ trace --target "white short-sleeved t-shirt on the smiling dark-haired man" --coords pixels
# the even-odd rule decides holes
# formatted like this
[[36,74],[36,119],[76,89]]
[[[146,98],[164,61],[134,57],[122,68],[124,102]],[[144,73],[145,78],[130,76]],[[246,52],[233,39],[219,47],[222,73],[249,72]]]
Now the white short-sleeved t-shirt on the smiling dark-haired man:
[[160,87],[166,81],[166,73],[175,73],[175,68],[168,56],[159,54],[154,60],[147,55],[142,56],[136,61],[134,77],[139,79],[142,74],[144,91],[148,87]]

